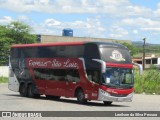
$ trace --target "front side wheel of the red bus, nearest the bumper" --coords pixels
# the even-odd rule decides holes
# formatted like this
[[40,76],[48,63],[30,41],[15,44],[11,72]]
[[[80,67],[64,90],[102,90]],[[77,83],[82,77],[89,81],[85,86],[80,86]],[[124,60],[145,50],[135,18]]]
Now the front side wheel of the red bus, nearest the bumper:
[[84,95],[84,92],[83,92],[83,90],[78,90],[78,92],[77,92],[77,101],[79,102],[79,103],[86,103],[87,102],[87,100],[85,99],[85,95]]

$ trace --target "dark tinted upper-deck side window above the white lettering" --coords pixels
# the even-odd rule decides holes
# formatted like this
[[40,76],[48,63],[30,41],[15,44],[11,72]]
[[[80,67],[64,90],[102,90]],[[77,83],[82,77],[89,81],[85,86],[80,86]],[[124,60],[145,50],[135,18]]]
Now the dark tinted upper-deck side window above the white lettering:
[[[84,46],[51,46],[51,47],[27,47],[22,48],[26,58],[53,58],[53,57],[71,57],[78,58],[84,55]],[[13,50],[14,54],[18,53]],[[11,55],[12,55],[11,53]]]

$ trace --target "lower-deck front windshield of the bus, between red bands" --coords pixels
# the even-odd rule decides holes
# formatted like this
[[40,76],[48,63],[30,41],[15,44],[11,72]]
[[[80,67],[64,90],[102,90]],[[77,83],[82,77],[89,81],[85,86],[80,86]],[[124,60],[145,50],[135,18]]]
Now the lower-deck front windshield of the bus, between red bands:
[[102,84],[108,87],[133,87],[133,70],[129,68],[108,67],[103,74]]

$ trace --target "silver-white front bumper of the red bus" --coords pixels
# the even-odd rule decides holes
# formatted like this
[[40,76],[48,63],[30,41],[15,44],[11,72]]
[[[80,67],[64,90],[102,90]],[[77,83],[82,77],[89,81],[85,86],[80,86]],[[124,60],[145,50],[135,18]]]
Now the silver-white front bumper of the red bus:
[[115,97],[115,96],[111,96],[108,92],[102,89],[99,89],[98,100],[100,101],[131,102],[132,98],[133,98],[133,93],[130,93],[125,97]]

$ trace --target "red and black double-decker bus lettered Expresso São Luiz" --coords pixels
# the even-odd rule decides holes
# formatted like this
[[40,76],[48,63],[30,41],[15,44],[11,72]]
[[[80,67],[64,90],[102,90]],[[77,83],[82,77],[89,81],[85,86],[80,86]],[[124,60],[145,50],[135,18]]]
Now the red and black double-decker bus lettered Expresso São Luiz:
[[133,63],[127,47],[107,42],[11,46],[8,87],[24,97],[76,97],[110,105],[131,101]]

